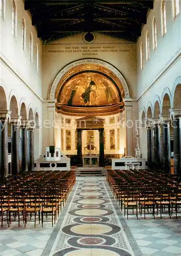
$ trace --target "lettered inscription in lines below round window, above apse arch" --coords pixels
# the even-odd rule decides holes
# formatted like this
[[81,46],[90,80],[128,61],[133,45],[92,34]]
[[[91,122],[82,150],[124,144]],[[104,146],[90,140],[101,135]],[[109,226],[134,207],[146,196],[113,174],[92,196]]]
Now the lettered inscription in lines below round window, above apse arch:
[[117,49],[114,46],[67,46],[61,50],[48,50],[48,53],[81,53],[83,56],[96,56],[98,53],[130,52],[130,49]]

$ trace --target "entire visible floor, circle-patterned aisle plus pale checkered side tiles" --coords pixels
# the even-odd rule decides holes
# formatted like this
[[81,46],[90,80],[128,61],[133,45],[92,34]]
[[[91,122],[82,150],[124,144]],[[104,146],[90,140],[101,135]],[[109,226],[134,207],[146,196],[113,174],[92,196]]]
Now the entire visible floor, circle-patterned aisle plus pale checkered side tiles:
[[54,228],[6,222],[0,229],[0,255],[7,256],[181,256],[181,216],[121,215],[105,177],[77,178]]

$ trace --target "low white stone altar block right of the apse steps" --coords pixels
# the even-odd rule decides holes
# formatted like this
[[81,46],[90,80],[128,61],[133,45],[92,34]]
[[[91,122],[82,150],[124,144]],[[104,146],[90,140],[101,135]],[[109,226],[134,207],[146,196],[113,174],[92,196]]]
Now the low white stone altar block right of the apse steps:
[[[128,166],[133,168],[135,165],[139,169],[146,169],[146,159],[135,158],[131,156],[122,157],[122,158],[112,158],[112,169],[113,170],[126,170]],[[138,167],[139,166],[139,167]]]

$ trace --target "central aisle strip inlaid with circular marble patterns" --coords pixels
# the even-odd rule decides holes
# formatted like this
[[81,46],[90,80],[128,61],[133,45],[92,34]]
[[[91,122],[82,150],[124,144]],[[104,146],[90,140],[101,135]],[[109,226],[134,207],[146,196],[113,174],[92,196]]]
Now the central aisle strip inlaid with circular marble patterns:
[[142,255],[105,178],[78,178],[42,252],[55,256]]

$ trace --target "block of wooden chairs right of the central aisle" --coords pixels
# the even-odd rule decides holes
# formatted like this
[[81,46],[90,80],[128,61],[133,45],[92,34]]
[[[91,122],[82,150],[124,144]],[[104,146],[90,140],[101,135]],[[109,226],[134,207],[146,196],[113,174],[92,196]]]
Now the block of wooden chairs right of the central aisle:
[[[181,207],[181,189],[178,177],[154,174],[143,170],[132,172],[109,170],[107,182],[117,200],[124,216],[138,213],[144,218],[146,214],[160,217],[167,213],[169,217],[175,212],[176,218]],[[132,213],[131,213],[132,210]],[[135,211],[136,213],[135,213]]]

